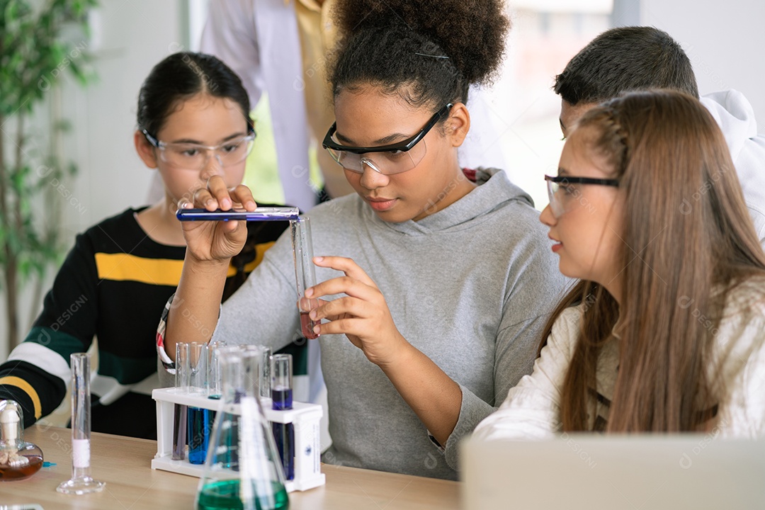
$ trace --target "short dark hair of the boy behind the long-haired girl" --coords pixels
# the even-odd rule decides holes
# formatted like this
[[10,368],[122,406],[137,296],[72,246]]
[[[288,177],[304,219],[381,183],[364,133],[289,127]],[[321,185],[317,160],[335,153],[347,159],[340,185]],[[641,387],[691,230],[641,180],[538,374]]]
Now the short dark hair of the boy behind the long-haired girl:
[[603,102],[623,92],[679,90],[698,98],[693,66],[682,47],[654,27],[612,28],[595,37],[555,76],[571,105]]

